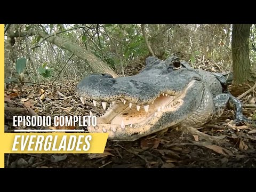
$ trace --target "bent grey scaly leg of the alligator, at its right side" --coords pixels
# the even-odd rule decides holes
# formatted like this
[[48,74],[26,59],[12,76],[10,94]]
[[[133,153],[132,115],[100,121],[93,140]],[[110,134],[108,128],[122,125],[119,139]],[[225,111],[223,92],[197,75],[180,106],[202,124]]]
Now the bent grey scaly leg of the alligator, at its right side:
[[213,99],[215,105],[215,116],[220,117],[225,108],[233,109],[235,113],[234,121],[236,125],[248,122],[243,116],[242,103],[230,93],[221,93]]

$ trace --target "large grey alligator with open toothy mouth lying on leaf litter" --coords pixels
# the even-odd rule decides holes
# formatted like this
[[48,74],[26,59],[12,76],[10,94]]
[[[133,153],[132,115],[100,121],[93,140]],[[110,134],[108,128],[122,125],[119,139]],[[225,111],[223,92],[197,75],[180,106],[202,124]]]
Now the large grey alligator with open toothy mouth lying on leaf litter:
[[246,121],[242,103],[228,92],[225,76],[194,69],[175,56],[148,57],[146,66],[133,76],[86,76],[76,94],[82,103],[91,99],[95,107],[109,106],[96,126],[87,127],[91,133],[108,133],[109,140],[134,141],[178,125],[202,127],[226,108],[234,110],[236,124]]

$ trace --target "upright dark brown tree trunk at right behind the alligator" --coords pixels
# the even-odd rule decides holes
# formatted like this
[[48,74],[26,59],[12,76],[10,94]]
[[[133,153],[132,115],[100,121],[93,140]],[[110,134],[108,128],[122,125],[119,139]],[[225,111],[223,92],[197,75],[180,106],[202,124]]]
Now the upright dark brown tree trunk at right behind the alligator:
[[232,57],[234,84],[246,84],[252,81],[251,63],[249,59],[249,35],[251,24],[233,24]]

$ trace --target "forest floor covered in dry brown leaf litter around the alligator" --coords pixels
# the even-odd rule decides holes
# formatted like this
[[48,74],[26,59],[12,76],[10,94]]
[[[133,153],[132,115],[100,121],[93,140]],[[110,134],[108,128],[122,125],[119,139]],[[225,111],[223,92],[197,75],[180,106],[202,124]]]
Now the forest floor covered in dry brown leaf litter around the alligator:
[[[196,67],[221,71],[215,63],[203,64]],[[140,69],[141,66],[127,68],[126,75]],[[28,129],[14,127],[13,115],[83,116],[89,115],[89,110],[100,115],[102,107],[94,107],[92,101],[82,105],[75,96],[76,85],[77,82],[63,81],[54,84],[53,91],[51,84],[6,85],[5,132]],[[255,118],[255,94],[253,90],[240,99],[243,113],[249,118]],[[255,167],[256,128],[234,125],[233,115],[232,110],[225,110],[221,118],[198,129],[223,142],[212,143],[197,134],[169,129],[133,142],[107,141],[103,154],[5,154],[5,167]]]

